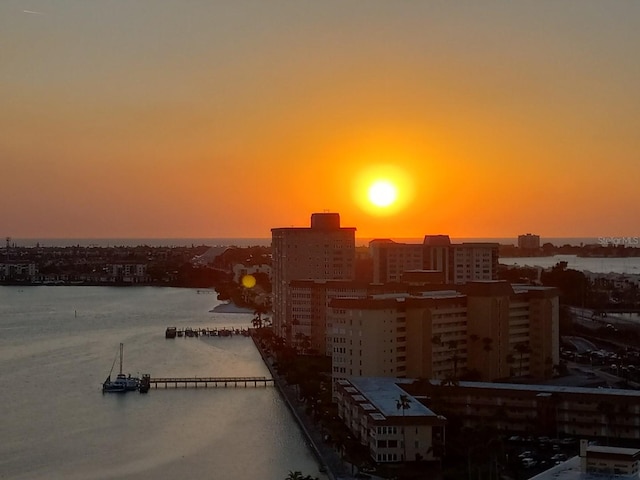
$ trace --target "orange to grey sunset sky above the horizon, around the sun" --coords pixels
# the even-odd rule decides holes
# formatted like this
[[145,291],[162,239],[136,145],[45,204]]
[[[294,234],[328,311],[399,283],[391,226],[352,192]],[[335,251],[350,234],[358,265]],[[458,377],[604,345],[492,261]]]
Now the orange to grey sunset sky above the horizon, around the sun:
[[638,45],[634,1],[4,0],[0,235],[639,236]]

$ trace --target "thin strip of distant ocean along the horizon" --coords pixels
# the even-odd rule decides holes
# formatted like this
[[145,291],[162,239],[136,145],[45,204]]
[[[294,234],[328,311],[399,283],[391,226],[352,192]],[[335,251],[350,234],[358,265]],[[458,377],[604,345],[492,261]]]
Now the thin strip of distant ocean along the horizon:
[[[381,238],[381,237],[376,237]],[[424,237],[419,238],[394,238],[396,242],[404,243],[422,243]],[[356,237],[356,245],[368,245],[374,238],[358,238]],[[496,242],[501,245],[516,245],[517,237],[504,238],[455,238],[451,241],[454,243],[462,242]],[[540,244],[552,243],[556,246],[562,245],[590,245],[598,244],[595,237],[575,237],[575,238],[540,238]],[[11,243],[15,243],[21,247],[72,247],[79,245],[81,247],[135,247],[138,245],[148,245],[150,247],[190,247],[198,245],[208,246],[238,246],[250,247],[255,245],[269,246],[271,245],[271,237],[263,238],[12,238]]]

